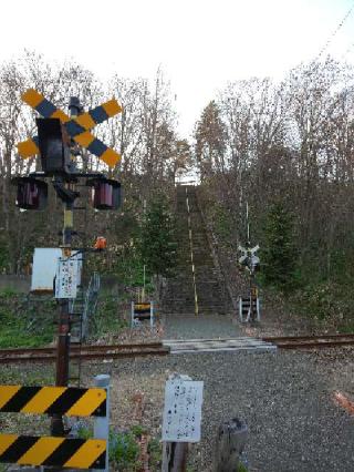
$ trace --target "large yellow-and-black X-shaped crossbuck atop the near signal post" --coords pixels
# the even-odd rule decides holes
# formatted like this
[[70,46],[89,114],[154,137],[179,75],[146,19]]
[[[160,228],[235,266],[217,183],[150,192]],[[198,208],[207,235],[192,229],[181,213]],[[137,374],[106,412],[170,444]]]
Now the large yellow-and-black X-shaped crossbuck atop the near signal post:
[[[77,144],[86,147],[87,151],[100,157],[108,166],[114,167],[121,161],[118,153],[106,146],[91,133],[91,130],[96,124],[103,123],[105,120],[122,112],[122,106],[116,100],[110,100],[88,112],[82,113],[79,116],[70,117],[34,89],[27,90],[21,98],[43,117],[59,119],[64,125],[67,134]],[[33,136],[22,143],[19,143],[18,151],[22,158],[40,154],[38,136]]]

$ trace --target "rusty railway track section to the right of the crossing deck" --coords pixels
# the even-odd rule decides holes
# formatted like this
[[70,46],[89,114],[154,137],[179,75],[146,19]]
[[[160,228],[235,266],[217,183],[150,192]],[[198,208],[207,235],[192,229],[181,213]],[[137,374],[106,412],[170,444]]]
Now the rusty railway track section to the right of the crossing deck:
[[273,343],[279,349],[320,349],[354,346],[354,334],[264,337],[262,340]]

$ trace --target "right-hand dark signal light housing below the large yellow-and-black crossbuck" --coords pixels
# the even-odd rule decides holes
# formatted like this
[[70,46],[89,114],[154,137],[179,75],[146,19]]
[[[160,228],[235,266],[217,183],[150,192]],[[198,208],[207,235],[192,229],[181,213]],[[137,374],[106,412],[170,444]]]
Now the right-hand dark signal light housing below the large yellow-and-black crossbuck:
[[121,206],[121,184],[112,178],[93,178],[87,181],[92,186],[93,207],[96,209],[117,209]]

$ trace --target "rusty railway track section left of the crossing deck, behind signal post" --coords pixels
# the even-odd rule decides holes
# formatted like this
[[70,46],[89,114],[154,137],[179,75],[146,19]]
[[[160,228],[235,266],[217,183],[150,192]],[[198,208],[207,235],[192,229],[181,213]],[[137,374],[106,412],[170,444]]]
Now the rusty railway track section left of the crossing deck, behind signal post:
[[[162,342],[131,345],[86,345],[71,346],[71,359],[116,359],[142,356],[166,356],[169,349]],[[56,359],[56,348],[19,348],[0,349],[0,363],[17,362],[53,362]]]

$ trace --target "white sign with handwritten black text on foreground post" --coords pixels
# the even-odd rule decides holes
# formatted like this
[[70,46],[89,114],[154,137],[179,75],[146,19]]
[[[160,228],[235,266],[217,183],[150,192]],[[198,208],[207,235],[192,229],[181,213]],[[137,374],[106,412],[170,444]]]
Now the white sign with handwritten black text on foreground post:
[[204,382],[169,379],[165,389],[163,441],[200,441]]

